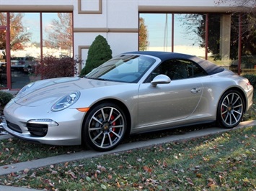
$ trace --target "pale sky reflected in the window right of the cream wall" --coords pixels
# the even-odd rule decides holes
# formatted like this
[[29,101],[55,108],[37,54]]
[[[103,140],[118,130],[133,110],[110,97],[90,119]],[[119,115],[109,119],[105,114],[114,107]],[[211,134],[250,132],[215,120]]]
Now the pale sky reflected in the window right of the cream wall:
[[[148,28],[148,50],[172,51],[172,14],[140,14]],[[192,29],[187,30],[185,14],[175,14],[175,52],[190,52],[193,55],[204,55],[204,49],[198,44],[198,36]],[[191,27],[191,25],[190,25]],[[195,25],[196,27],[196,25]]]

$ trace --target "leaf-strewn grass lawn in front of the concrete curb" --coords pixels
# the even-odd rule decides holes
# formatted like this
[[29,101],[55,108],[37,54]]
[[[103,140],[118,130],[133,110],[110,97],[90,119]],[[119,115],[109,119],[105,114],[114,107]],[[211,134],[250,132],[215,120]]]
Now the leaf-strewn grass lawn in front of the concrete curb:
[[0,182],[45,190],[255,190],[255,130],[25,169]]

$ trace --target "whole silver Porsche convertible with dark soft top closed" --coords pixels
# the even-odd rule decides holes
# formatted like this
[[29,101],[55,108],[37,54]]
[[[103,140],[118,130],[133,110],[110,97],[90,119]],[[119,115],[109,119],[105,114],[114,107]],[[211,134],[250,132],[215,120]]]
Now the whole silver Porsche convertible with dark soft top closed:
[[27,141],[105,152],[125,135],[192,124],[233,128],[252,106],[249,80],[192,55],[127,52],[84,78],[26,85],[4,129]]

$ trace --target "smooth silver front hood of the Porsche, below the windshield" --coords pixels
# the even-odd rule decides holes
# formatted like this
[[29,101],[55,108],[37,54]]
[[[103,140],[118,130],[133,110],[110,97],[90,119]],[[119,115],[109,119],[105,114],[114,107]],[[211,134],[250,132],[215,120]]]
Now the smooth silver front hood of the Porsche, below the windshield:
[[22,89],[14,98],[14,101],[21,106],[35,107],[48,103],[53,104],[63,96],[75,91],[118,84],[123,83],[76,77],[39,80],[32,83],[30,88]]

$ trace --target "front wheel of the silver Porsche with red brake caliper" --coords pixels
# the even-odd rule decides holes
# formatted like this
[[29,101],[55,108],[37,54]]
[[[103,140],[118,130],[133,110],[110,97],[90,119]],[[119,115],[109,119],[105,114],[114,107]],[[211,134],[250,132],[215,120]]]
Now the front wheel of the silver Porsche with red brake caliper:
[[81,139],[91,149],[107,152],[120,144],[126,129],[123,110],[114,103],[100,103],[89,111]]

